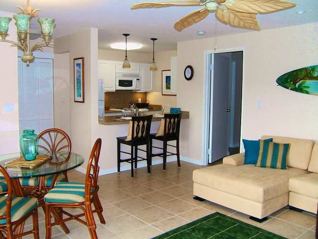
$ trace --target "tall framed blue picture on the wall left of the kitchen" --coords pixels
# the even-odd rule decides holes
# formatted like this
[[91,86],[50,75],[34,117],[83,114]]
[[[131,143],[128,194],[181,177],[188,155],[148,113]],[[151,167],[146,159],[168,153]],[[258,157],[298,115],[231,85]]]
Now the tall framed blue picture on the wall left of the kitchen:
[[74,102],[84,103],[84,57],[74,59]]

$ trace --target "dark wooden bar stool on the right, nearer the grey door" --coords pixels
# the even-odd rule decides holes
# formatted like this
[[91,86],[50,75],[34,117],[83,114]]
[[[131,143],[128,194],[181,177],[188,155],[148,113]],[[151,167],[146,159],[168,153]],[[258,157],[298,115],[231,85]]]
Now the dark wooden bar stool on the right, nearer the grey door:
[[[180,167],[180,151],[179,151],[179,132],[180,132],[181,114],[164,114],[164,118],[161,119],[157,133],[150,134],[150,155],[152,157],[163,158],[163,170],[165,170],[165,164],[167,156],[176,155],[178,167]],[[162,141],[162,147],[153,146],[153,140]],[[175,145],[168,144],[168,141],[175,140]],[[174,147],[175,153],[167,151],[167,146]],[[153,148],[161,149],[160,153],[153,153]]]

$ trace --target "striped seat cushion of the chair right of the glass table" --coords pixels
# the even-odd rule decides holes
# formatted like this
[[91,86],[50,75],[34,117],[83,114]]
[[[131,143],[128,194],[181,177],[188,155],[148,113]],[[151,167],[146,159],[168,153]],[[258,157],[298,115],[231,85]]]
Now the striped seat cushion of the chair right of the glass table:
[[84,202],[85,184],[59,182],[45,196],[46,203],[80,203]]

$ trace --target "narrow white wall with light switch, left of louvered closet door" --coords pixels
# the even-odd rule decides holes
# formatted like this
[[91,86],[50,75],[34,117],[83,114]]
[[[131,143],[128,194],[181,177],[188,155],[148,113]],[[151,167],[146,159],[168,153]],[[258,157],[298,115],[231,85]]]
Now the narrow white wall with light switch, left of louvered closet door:
[[[14,13],[2,12],[1,16]],[[7,40],[16,41],[14,20],[9,24]],[[17,48],[0,42],[0,155],[19,152]],[[5,104],[13,104],[13,112],[4,112]]]

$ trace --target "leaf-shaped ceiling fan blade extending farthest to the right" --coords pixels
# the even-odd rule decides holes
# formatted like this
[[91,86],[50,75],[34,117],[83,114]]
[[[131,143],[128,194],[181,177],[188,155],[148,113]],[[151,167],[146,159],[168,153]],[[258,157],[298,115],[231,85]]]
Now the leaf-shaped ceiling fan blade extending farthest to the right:
[[291,8],[296,5],[296,3],[283,0],[234,0],[234,2],[234,4],[231,4],[230,1],[224,5],[226,5],[228,9],[248,13],[269,13]]

